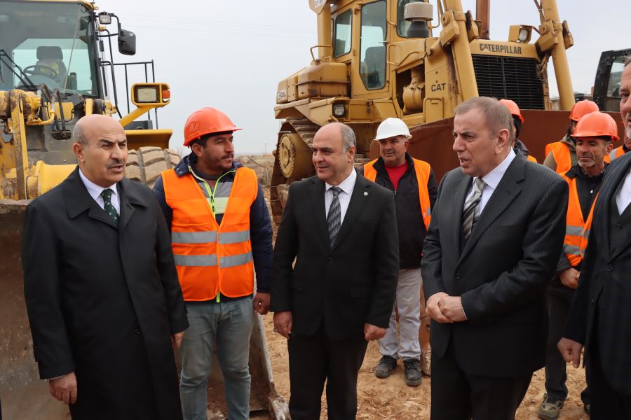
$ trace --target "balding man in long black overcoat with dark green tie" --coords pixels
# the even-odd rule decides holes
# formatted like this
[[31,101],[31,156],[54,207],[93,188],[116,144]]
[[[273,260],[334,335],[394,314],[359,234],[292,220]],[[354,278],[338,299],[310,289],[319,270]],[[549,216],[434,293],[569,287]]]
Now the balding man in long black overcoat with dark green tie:
[[124,178],[125,130],[81,118],[79,167],[27,207],[22,264],[33,351],[74,420],[182,419],[172,345],[186,308],[151,190]]

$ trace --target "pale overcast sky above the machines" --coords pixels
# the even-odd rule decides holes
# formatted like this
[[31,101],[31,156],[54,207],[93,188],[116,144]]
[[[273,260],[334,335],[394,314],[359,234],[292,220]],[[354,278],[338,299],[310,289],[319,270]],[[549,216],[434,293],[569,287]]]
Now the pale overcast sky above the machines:
[[[589,92],[600,52],[631,48],[629,0],[557,2],[574,36],[567,51],[574,90]],[[170,84],[172,103],[158,118],[161,128],[173,130],[172,148],[181,148],[186,118],[203,106],[221,109],[243,128],[235,133],[236,153],[269,153],[276,146],[276,87],[309,65],[309,48],[317,43],[308,0],[100,0],[97,6],[116,13],[123,29],[137,36],[136,55],[115,55],[116,61],[154,59],[156,81]],[[475,1],[463,0],[463,8],[475,14]],[[531,0],[491,0],[491,39],[506,40],[509,25],[538,23]],[[551,69],[550,63],[555,95]],[[144,81],[144,74],[130,76],[130,83]],[[123,101],[120,108],[126,111]]]

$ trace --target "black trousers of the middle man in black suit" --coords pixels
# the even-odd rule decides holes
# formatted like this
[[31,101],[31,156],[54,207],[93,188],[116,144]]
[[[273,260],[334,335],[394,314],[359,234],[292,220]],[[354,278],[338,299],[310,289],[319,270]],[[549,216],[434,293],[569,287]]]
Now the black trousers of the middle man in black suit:
[[290,360],[290,414],[292,420],[319,420],[320,398],[327,383],[330,420],[353,420],[357,414],[357,375],[368,342],[333,340],[323,325],[315,335],[292,333],[287,341]]

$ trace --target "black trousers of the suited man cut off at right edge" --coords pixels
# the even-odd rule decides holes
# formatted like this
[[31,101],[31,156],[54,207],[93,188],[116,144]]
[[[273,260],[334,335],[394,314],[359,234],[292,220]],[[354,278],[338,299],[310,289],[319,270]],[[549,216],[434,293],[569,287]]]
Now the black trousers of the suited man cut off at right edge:
[[592,337],[588,351],[588,363],[591,365],[591,420],[631,420],[631,395],[624,395],[611,387],[602,370],[597,332]]

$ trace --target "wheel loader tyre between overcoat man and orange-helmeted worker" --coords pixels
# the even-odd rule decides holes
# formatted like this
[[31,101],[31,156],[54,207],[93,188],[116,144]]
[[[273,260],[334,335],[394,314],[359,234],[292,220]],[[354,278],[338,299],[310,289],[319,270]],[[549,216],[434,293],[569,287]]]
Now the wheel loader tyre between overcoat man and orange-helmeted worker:
[[129,151],[125,176],[153,188],[160,173],[175,167],[179,160],[177,153],[170,149],[141,147],[137,151]]

